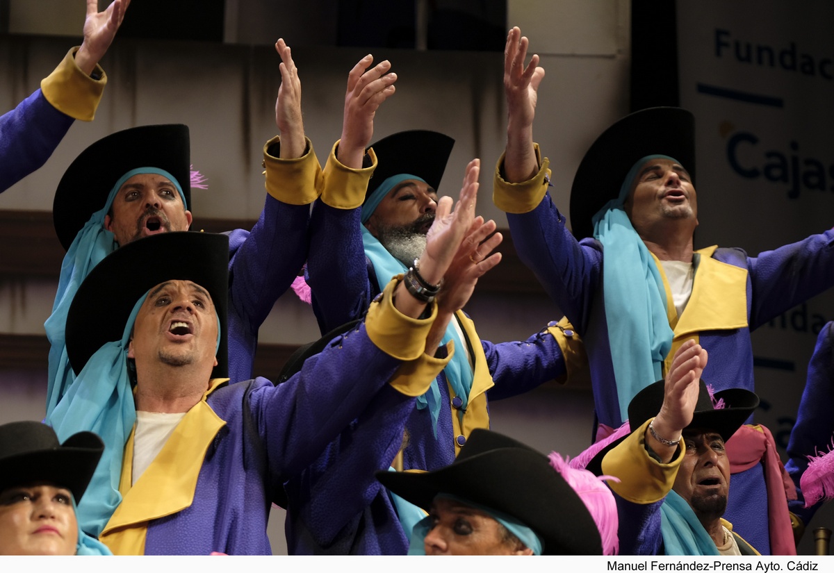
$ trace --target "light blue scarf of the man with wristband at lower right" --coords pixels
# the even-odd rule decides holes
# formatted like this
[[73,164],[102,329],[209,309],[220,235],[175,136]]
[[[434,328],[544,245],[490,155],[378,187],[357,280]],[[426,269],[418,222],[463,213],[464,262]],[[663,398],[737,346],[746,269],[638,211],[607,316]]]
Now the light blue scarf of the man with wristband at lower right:
[[715,541],[686,500],[670,491],[661,505],[661,532],[666,555],[718,555]]

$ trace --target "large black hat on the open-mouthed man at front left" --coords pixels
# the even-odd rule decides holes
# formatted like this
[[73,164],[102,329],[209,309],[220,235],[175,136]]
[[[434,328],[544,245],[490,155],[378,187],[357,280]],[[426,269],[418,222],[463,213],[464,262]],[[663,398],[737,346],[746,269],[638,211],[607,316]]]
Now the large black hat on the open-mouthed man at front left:
[[67,356],[73,371],[82,371],[106,342],[122,338],[140,296],[173,280],[194,282],[211,295],[220,319],[218,365],[212,377],[227,377],[229,237],[188,231],[143,237],[116,249],[93,267],[67,314]]

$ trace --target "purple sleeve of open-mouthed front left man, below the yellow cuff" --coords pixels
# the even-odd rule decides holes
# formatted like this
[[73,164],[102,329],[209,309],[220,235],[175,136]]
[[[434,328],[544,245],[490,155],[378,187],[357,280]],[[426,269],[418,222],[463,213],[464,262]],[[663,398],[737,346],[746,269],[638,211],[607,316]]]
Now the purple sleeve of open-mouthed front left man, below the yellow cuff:
[[252,406],[271,474],[286,480],[313,463],[362,414],[400,364],[374,346],[363,323],[334,338],[288,381],[255,392]]

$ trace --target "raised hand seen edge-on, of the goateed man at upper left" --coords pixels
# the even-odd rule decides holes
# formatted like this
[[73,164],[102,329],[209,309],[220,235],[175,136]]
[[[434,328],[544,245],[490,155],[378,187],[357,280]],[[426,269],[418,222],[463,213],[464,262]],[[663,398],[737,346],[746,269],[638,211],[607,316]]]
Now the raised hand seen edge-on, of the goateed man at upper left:
[[293,54],[284,38],[275,42],[275,51],[281,57],[278,66],[281,86],[275,100],[275,125],[281,133],[280,157],[289,159],[304,155],[304,120],[301,117],[301,80],[293,62]]

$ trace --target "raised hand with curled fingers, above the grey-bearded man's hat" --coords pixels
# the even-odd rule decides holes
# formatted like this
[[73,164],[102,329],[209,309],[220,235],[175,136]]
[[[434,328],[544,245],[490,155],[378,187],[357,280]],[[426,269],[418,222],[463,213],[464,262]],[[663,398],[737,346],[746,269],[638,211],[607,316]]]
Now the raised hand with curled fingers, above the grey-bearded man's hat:
[[348,74],[348,90],[344,94],[344,123],[339,139],[337,158],[345,167],[362,167],[365,147],[374,136],[374,115],[386,99],[394,95],[397,74],[391,62],[384,60],[374,67],[371,54],[356,63]]

